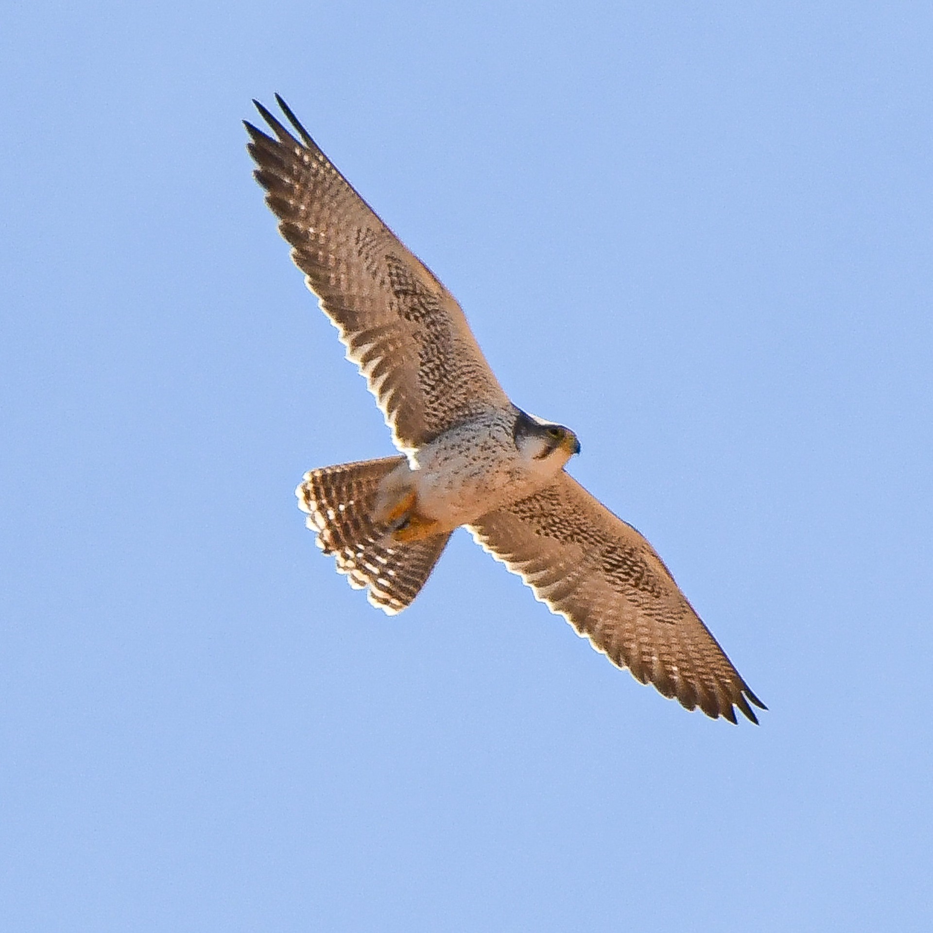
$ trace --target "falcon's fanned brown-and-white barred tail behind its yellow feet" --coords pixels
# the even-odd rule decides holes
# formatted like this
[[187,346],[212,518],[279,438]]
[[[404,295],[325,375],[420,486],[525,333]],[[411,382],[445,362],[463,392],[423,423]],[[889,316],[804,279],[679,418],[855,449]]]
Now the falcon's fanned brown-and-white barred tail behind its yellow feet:
[[373,518],[379,483],[404,457],[325,466],[305,473],[295,490],[317,546],[333,554],[337,570],[369,602],[389,615],[401,612],[418,595],[438,563],[450,532],[398,544],[388,527]]

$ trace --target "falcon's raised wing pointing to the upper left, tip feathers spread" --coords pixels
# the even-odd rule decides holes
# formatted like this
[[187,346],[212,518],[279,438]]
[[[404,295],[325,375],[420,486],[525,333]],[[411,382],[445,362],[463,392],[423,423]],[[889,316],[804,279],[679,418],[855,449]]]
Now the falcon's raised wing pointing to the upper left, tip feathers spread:
[[419,447],[480,411],[508,405],[460,305],[276,100],[298,138],[254,101],[274,133],[245,124],[256,178],[397,447]]

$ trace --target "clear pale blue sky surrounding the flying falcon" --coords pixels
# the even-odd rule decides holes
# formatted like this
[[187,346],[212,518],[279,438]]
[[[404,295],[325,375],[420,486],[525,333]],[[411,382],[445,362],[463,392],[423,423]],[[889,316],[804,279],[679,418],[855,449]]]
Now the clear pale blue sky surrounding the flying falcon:
[[[7,4],[0,904],[16,931],[927,930],[928,3]],[[770,711],[642,687],[454,536],[250,177],[280,91]]]

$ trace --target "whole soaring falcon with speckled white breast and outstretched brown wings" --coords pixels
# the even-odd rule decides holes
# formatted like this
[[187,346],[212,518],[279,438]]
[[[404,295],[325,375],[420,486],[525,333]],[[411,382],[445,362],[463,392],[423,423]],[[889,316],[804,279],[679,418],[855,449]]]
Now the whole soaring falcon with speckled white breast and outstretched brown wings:
[[462,526],[592,647],[687,709],[758,722],[765,709],[630,524],[570,477],[577,436],[517,408],[466,316],[276,95],[254,101],[249,153],[279,232],[347,358],[369,384],[397,456],[306,473],[296,494],[318,547],[386,613],[425,585]]

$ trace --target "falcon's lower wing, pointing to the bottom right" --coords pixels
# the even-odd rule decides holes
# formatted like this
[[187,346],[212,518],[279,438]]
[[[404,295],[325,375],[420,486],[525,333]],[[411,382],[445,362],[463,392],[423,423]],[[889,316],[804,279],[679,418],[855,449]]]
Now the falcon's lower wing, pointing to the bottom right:
[[748,688],[648,541],[563,471],[470,531],[610,661],[687,709],[758,722]]

